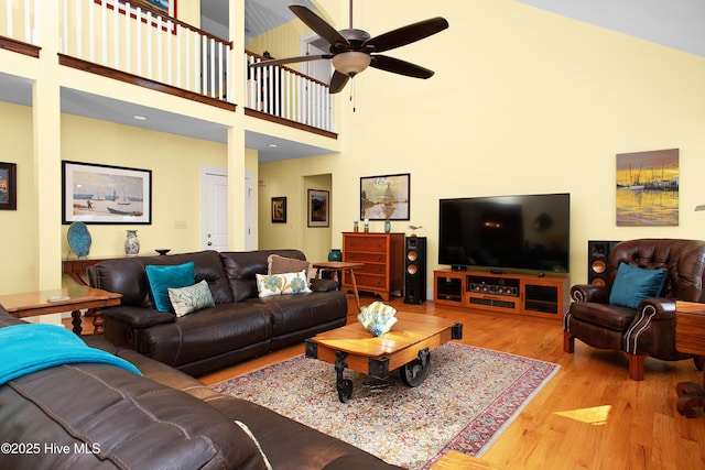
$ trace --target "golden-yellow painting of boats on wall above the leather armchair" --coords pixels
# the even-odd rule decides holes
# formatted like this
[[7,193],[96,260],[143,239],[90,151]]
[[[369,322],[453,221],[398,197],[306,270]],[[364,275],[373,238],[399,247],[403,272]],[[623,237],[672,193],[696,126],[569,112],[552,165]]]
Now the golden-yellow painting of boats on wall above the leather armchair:
[[617,154],[617,226],[679,225],[679,149]]

